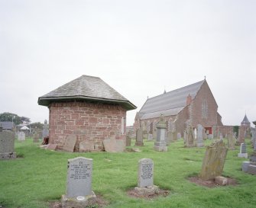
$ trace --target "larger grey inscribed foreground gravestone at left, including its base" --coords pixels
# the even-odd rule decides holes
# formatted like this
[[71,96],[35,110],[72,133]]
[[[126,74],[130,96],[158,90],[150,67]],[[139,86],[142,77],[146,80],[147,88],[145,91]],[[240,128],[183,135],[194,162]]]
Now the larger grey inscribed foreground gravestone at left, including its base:
[[92,159],[73,158],[67,162],[66,195],[62,207],[85,207],[96,202],[92,191]]

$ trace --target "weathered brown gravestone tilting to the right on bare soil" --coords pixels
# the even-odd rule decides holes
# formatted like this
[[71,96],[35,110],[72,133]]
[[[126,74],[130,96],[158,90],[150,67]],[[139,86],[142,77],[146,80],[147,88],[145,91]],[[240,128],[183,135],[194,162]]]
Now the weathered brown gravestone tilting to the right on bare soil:
[[207,146],[199,178],[207,181],[222,175],[227,152],[228,149],[223,140],[218,140]]

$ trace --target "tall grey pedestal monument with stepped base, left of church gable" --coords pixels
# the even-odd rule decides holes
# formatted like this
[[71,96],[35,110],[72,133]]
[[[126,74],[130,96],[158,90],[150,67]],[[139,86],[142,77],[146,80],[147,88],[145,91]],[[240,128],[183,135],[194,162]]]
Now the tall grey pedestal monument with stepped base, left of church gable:
[[167,145],[165,142],[166,128],[164,115],[160,115],[160,121],[157,123],[157,141],[154,142],[154,150],[156,151],[167,152]]

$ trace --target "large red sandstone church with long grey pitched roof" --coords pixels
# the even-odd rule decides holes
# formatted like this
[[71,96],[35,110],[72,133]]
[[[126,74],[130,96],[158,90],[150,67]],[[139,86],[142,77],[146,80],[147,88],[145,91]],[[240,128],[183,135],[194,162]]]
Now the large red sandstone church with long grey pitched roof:
[[167,131],[172,130],[183,136],[185,123],[190,120],[193,128],[197,124],[204,126],[207,134],[212,134],[212,126],[222,126],[222,117],[218,113],[218,105],[206,79],[178,88],[164,94],[148,98],[141,110],[136,114],[134,129],[139,126],[145,133],[155,136],[156,123],[160,114],[164,114]]

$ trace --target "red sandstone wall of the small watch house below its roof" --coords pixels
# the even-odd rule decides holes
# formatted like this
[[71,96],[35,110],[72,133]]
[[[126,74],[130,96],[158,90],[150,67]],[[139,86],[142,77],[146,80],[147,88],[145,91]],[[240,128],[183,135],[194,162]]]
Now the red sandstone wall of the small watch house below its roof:
[[76,149],[83,140],[91,140],[96,149],[103,149],[104,139],[125,139],[122,117],[126,118],[126,110],[119,105],[79,101],[52,103],[49,109],[50,143],[60,148],[69,134],[77,136]]

